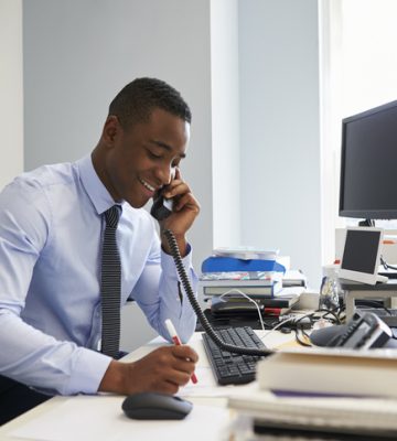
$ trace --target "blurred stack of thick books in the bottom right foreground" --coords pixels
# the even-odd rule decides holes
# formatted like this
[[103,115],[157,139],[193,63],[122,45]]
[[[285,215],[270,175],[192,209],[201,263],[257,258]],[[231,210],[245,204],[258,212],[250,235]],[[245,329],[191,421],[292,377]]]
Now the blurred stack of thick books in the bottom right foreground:
[[229,398],[237,415],[234,435],[240,439],[243,427],[258,441],[269,434],[396,440],[396,369],[394,349],[278,352],[257,364],[253,388]]

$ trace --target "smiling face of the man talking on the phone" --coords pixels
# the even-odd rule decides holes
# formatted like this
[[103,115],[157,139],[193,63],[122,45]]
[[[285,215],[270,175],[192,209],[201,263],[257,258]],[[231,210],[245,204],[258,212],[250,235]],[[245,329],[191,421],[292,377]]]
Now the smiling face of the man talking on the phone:
[[140,208],[171,182],[174,168],[185,157],[190,125],[161,109],[153,110],[148,122],[127,129],[111,118],[115,132],[101,178],[115,201]]

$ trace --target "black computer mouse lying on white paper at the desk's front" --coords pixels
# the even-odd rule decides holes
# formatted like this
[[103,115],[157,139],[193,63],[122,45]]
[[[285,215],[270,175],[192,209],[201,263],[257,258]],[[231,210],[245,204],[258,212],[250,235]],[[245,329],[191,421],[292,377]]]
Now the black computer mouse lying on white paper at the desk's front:
[[122,401],[126,416],[136,420],[182,420],[192,407],[190,401],[159,392],[133,394]]

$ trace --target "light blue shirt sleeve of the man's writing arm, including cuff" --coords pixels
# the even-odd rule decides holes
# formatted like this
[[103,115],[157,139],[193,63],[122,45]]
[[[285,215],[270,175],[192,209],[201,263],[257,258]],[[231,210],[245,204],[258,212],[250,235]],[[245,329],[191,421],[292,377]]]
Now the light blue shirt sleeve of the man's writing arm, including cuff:
[[49,394],[95,394],[110,357],[61,342],[21,318],[34,265],[51,234],[40,189],[0,194],[0,374]]

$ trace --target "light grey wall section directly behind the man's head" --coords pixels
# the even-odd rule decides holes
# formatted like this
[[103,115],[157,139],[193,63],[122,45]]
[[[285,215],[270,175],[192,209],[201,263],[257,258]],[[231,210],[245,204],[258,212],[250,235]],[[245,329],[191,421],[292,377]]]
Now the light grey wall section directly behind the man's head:
[[[23,18],[26,170],[90,152],[108,104],[135,77],[182,93],[193,112],[182,171],[202,205],[190,234],[200,268],[213,246],[210,1],[28,0]],[[133,344],[152,335],[138,319],[124,327]]]

